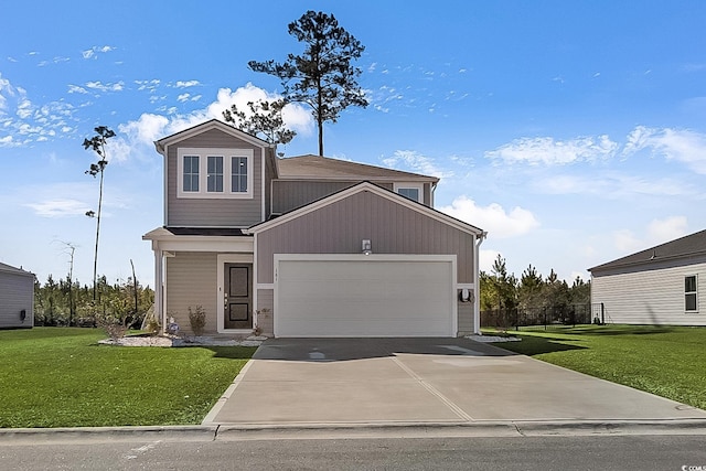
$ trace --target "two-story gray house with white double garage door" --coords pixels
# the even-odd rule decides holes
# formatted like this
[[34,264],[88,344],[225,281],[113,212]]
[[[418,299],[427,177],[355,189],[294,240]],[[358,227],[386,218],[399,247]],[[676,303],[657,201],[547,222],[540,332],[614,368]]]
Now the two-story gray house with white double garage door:
[[479,332],[485,233],[434,210],[435,176],[276,157],[217,120],[156,142],[164,226],[156,309],[191,333],[457,336]]

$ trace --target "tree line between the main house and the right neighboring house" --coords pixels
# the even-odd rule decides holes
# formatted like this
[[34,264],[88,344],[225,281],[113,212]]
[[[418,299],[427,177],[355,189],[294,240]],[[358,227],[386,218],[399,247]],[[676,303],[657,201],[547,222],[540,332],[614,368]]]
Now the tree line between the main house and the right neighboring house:
[[591,299],[590,281],[576,277],[569,286],[554,269],[543,277],[532,264],[517,279],[507,272],[505,259],[500,255],[490,274],[480,272],[480,285],[481,311],[569,311],[589,304]]

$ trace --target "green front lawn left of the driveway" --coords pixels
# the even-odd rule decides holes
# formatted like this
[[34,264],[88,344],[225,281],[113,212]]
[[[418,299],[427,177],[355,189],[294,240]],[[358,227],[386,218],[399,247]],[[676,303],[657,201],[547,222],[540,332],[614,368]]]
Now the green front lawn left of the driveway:
[[0,427],[200,424],[256,350],[99,345],[105,338],[0,331]]

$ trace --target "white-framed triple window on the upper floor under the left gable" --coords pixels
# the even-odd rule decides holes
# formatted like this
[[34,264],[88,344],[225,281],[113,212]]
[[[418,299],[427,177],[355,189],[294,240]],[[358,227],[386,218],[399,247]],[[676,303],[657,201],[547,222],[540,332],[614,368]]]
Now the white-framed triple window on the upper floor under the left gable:
[[180,148],[178,197],[253,197],[252,149]]

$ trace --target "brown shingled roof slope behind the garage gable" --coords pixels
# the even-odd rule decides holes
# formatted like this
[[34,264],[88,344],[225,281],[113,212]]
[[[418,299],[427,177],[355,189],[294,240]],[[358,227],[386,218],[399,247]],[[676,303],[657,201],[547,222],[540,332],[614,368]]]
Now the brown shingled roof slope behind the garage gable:
[[277,165],[279,178],[282,180],[375,180],[430,183],[439,181],[436,176],[311,154],[278,159]]

